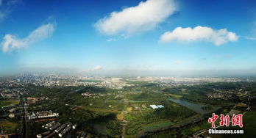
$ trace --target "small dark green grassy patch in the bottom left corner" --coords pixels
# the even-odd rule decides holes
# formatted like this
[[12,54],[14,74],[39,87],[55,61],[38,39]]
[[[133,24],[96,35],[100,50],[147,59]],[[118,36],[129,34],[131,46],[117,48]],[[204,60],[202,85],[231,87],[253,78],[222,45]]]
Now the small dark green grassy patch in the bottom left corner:
[[15,133],[18,128],[18,123],[13,123],[8,120],[0,120],[1,127],[6,131],[6,134]]

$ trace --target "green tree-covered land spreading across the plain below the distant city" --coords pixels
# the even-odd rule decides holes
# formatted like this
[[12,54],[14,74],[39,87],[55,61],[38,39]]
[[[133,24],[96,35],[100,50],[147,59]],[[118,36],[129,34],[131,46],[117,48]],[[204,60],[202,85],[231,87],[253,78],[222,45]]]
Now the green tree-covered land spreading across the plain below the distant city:
[[[91,81],[93,82],[93,81]],[[121,137],[125,127],[125,137],[188,137],[196,131],[210,127],[207,123],[210,113],[199,114],[170,101],[177,98],[204,105],[205,111],[213,111],[216,106],[221,107],[217,113],[227,114],[237,106],[241,112],[247,106],[255,106],[249,96],[256,95],[256,84],[237,83],[207,83],[194,86],[160,87],[157,82],[129,81],[135,84],[114,90],[102,87],[41,87],[28,85],[27,97],[48,97],[47,100],[38,101],[28,106],[27,112],[52,110],[58,112],[59,117],[54,120],[60,123],[77,123],[77,131],[72,134],[77,137],[85,131],[90,137]],[[243,88],[243,92],[239,90]],[[210,98],[213,93],[230,92],[230,98]],[[244,92],[246,91],[246,92]],[[91,95],[85,96],[82,93]],[[232,93],[233,92],[233,93]],[[238,93],[240,92],[240,93]],[[19,104],[20,99],[1,100],[0,106]],[[163,105],[164,108],[152,109],[150,105]],[[4,115],[1,114],[1,115]],[[197,120],[196,120],[197,118]],[[18,122],[18,121],[17,121]],[[29,137],[47,131],[41,126],[49,120],[29,120]],[[0,120],[4,131],[18,133],[20,123],[14,120]],[[253,132],[255,126],[255,107],[244,116],[244,130]],[[163,129],[163,130],[162,130]],[[152,131],[154,130],[154,131]],[[150,132],[152,131],[152,132]],[[145,132],[145,134],[143,134]]]

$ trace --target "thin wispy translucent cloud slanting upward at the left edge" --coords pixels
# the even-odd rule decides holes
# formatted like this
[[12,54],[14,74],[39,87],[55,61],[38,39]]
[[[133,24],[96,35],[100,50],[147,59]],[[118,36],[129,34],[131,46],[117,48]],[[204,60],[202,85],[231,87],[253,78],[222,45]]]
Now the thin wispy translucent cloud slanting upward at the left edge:
[[34,31],[30,32],[29,35],[23,39],[17,38],[15,35],[6,34],[4,40],[1,42],[2,51],[5,53],[7,51],[13,51],[15,49],[24,48],[31,45],[39,40],[46,39],[50,37],[54,32],[55,23],[47,23],[38,27]]

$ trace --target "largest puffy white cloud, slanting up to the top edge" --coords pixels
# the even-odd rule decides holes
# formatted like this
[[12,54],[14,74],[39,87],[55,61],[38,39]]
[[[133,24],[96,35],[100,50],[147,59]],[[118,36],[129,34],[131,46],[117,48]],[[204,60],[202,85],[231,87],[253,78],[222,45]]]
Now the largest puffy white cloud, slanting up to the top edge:
[[153,29],[174,14],[176,5],[173,0],[141,1],[138,6],[124,8],[121,12],[112,12],[97,21],[94,26],[102,34],[132,34]]

